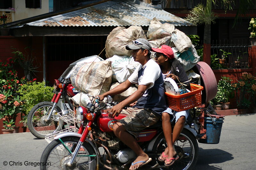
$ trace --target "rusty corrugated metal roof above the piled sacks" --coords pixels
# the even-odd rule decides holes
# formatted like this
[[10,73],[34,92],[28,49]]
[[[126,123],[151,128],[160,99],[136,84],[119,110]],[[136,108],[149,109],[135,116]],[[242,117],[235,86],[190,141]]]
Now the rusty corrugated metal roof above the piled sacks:
[[192,23],[156,7],[145,7],[132,1],[113,0],[81,10],[30,22],[30,26],[149,26],[156,17],[174,26]]

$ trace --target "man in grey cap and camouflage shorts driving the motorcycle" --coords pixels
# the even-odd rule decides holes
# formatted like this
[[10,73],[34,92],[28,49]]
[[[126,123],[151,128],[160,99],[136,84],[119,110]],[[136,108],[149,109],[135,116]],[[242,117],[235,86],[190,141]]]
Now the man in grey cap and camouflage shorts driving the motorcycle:
[[132,84],[138,84],[138,90],[127,99],[112,107],[109,111],[110,117],[115,117],[121,113],[125,106],[136,102],[130,113],[113,126],[113,131],[124,144],[129,146],[136,154],[137,158],[130,166],[130,170],[138,169],[147,164],[152,159],[143,152],[135,140],[143,129],[155,124],[161,113],[166,109],[164,97],[164,80],[160,67],[150,59],[151,45],[145,39],[137,39],[132,45],[125,47],[132,50],[134,61],[141,65],[124,83],[114,89],[99,95],[103,100],[107,95],[116,95],[126,91]]

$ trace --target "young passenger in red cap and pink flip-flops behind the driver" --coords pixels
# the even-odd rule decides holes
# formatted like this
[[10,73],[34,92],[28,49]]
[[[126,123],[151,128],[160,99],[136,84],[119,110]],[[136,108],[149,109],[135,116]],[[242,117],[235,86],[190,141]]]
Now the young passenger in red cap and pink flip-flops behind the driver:
[[[170,77],[175,80],[176,83],[188,81],[188,76],[183,67],[179,64],[179,61],[174,58],[171,47],[163,45],[159,48],[152,48],[152,51],[156,52],[156,63],[159,64],[161,68],[163,79]],[[187,85],[186,88],[190,89],[189,83],[185,84]],[[176,112],[168,107],[162,113],[162,126],[168,147],[165,148],[165,151],[159,156],[158,160],[164,162],[165,166],[172,165],[174,161],[179,158],[179,156],[176,155],[173,144],[178,139],[187,117],[188,110]],[[174,119],[176,123],[172,131],[171,122],[173,122]]]

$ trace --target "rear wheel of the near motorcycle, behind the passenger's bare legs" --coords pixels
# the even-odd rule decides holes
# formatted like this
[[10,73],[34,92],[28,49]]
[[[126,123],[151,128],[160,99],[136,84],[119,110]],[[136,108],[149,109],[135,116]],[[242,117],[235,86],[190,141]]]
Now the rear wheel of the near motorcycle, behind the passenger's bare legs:
[[[153,151],[156,151],[158,155],[164,152],[167,147],[164,133],[162,133],[153,146]],[[196,165],[198,159],[198,144],[195,136],[188,130],[183,129],[178,137],[178,140],[174,143],[175,150],[179,159],[177,159],[173,165],[166,166],[168,170],[191,170]],[[159,165],[164,165],[164,162],[159,162]]]

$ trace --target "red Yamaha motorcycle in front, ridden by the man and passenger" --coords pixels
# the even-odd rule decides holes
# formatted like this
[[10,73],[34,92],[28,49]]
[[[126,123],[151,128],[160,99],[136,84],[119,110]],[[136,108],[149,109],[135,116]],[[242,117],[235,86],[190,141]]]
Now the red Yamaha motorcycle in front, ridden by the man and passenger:
[[[89,95],[90,96],[90,95]],[[46,169],[87,169],[99,168],[99,162],[108,169],[129,169],[136,158],[136,154],[123,144],[113,133],[113,125],[126,115],[119,114],[115,118],[108,117],[106,107],[117,104],[110,96],[106,102],[90,96],[91,102],[86,108],[76,107],[76,117],[82,126],[78,133],[64,132],[54,137],[42,153],[40,162],[41,170]],[[198,144],[196,139],[205,136],[199,134],[200,117],[204,108],[192,109],[192,115],[184,127],[178,140],[174,143],[179,159],[169,169],[192,169],[198,158]],[[199,114],[199,115],[198,115]],[[199,133],[197,133],[199,131]],[[148,154],[152,161],[140,169],[167,168],[158,157],[167,147],[162,124],[158,123],[144,129],[136,138],[140,147]],[[99,148],[103,147],[104,153]]]

